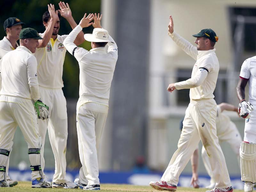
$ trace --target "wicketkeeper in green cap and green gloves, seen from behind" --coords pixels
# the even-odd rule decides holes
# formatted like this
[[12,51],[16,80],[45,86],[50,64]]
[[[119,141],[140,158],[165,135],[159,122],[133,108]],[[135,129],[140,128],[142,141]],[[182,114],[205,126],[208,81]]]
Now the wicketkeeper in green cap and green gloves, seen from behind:
[[20,31],[20,46],[16,50],[6,53],[0,60],[0,71],[3,77],[0,91],[1,187],[9,186],[6,182],[5,170],[17,126],[20,127],[28,144],[32,187],[48,188],[52,186],[41,175],[40,148],[42,143],[36,114],[38,118],[45,120],[48,118],[48,110],[40,99],[37,63],[32,54],[36,51],[38,39],[42,38],[35,29],[22,29]]

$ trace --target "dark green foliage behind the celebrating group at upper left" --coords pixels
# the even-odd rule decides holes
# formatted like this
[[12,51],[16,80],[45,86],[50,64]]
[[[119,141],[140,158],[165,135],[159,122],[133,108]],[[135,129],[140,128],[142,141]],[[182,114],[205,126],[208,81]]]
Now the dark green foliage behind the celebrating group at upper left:
[[[17,17],[22,22],[26,23],[23,28],[30,27],[36,29],[39,33],[43,33],[45,28],[43,26],[42,16],[44,12],[48,10],[47,4],[54,4],[55,10],[57,10],[60,9],[58,5],[59,2],[60,1],[57,0],[0,1],[0,24],[2,25],[2,30],[0,30],[0,38],[6,36],[3,26],[4,20],[9,17]],[[84,13],[100,13],[100,0],[67,0],[64,2],[69,4],[72,11],[72,16],[77,24],[83,18]],[[61,18],[59,35],[69,34],[71,30],[72,28],[70,27],[68,21]],[[92,33],[92,30],[92,26],[83,29],[84,33]],[[91,43],[84,42],[80,45],[80,47],[90,50]],[[76,59],[68,52],[66,53],[63,66],[63,81],[64,95],[67,98],[78,98],[79,66]]]

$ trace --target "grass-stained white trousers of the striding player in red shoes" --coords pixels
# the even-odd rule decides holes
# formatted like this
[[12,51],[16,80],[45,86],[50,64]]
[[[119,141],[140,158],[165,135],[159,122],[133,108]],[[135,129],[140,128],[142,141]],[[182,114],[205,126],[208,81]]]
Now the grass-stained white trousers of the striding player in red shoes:
[[200,139],[209,156],[216,188],[231,186],[225,157],[216,133],[217,105],[214,99],[191,100],[186,110],[178,149],[164,172],[161,180],[177,185],[180,173],[195,151]]

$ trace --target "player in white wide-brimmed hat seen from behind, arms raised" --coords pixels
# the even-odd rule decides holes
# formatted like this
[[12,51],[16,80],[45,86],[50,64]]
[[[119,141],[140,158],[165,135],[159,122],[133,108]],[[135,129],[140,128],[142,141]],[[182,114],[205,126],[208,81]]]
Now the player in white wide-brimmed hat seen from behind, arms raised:
[[[89,14],[80,21],[64,41],[68,52],[75,56],[80,68],[79,100],[76,106],[76,128],[82,167],[74,183],[85,190],[99,190],[98,155],[100,137],[108,115],[108,100],[118,57],[117,45],[108,31],[100,25],[102,15]],[[94,22],[91,22],[91,20]],[[74,40],[82,28],[92,25],[90,51],[77,47]],[[108,52],[105,46],[108,45]]]

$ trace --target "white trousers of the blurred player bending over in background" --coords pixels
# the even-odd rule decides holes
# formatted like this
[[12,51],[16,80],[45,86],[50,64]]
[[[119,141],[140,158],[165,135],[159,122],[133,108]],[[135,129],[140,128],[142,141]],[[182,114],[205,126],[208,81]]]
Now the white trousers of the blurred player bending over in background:
[[[225,123],[225,122],[223,122]],[[219,138],[219,143],[221,142],[228,142],[234,153],[236,154],[238,165],[240,166],[240,154],[239,154],[239,148],[242,142],[242,137],[237,130],[236,124],[234,124],[232,121],[230,122],[230,125],[228,129],[222,133],[222,134],[217,134],[217,137]],[[207,155],[207,152],[204,148],[202,147],[202,159],[204,162],[204,167],[208,173],[208,175],[211,177],[211,184],[216,183],[214,179],[214,175],[212,172],[211,164],[209,157]]]

